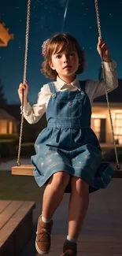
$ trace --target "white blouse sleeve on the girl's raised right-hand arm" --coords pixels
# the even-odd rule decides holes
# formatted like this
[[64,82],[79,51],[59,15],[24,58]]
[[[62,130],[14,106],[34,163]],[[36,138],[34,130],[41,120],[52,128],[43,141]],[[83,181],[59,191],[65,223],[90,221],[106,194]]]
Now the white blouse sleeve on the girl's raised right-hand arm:
[[[110,91],[113,91],[114,89],[116,89],[116,87],[118,87],[118,79],[116,76],[116,62],[103,62],[103,65],[105,70],[105,84],[109,93]],[[105,95],[104,81],[87,80],[86,92],[92,103],[94,98]]]

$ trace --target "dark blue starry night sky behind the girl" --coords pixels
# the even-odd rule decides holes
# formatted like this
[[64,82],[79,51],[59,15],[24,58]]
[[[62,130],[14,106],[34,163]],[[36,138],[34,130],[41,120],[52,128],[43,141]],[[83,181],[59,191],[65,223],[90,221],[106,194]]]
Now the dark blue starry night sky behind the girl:
[[[108,44],[111,57],[117,63],[118,78],[122,78],[122,1],[109,3],[109,0],[98,0],[102,39]],[[32,104],[37,100],[40,87],[49,81],[40,72],[43,41],[61,32],[65,6],[66,0],[31,0],[27,80],[28,99]],[[23,81],[26,13],[27,1],[0,1],[2,22],[14,34],[14,40],[9,41],[7,47],[0,47],[0,78],[8,103],[20,102],[17,89]],[[87,69],[79,78],[98,80],[101,59],[96,50],[98,28],[94,0],[69,0],[64,32],[75,36],[86,53]]]

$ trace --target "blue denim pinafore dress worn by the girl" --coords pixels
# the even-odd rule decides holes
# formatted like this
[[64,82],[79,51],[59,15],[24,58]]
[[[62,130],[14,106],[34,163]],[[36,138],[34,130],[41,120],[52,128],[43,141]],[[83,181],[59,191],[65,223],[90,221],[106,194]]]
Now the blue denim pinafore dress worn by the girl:
[[[35,141],[31,163],[39,187],[59,171],[87,182],[90,192],[105,188],[113,176],[109,163],[102,163],[98,139],[91,129],[91,102],[85,92],[85,81],[79,81],[80,91],[51,91],[46,109],[47,127]],[[65,192],[71,192],[70,182]]]

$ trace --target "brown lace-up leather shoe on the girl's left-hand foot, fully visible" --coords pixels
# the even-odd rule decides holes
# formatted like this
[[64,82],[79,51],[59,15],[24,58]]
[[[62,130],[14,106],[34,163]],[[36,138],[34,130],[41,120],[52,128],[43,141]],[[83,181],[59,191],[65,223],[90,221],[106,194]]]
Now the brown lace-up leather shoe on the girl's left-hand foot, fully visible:
[[42,216],[39,217],[35,239],[35,248],[39,254],[48,254],[50,251],[50,234],[52,226],[53,221],[45,223],[42,221]]

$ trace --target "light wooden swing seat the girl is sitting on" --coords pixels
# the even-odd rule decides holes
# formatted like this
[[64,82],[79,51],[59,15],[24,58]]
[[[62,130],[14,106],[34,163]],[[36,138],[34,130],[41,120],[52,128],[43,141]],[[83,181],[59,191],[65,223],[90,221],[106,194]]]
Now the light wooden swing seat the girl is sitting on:
[[[12,167],[13,175],[24,175],[24,176],[33,176],[34,166],[33,165],[20,165]],[[114,170],[113,178],[122,178],[122,169]]]

